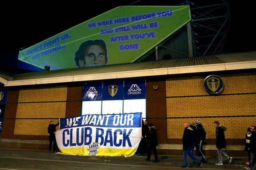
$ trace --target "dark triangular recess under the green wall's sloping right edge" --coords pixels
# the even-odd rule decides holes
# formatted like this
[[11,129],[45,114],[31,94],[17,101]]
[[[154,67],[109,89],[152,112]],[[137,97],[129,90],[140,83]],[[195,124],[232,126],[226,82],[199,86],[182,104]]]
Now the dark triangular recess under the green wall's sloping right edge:
[[[164,47],[163,47],[164,46]],[[173,49],[173,50],[172,50]],[[174,51],[175,50],[175,51]],[[180,51],[182,53],[178,53]],[[188,33],[187,27],[181,28],[168,38],[168,41],[164,42],[161,46],[158,46],[158,58],[162,59],[176,59],[188,57]]]

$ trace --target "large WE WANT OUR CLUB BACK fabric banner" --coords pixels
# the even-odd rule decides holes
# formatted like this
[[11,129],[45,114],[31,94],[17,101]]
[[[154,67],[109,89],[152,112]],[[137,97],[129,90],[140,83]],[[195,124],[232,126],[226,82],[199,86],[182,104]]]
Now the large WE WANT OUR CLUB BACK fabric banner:
[[56,141],[66,154],[128,157],[139,146],[141,121],[141,113],[62,118]]

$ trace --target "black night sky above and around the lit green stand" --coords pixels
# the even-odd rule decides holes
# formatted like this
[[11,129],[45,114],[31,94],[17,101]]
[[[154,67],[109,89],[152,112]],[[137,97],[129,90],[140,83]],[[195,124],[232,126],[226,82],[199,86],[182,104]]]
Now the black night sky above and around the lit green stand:
[[[1,15],[0,68],[17,67],[18,51],[30,47],[70,27],[98,16],[112,8],[130,5],[136,0],[110,1],[42,1],[39,2],[4,2]],[[116,3],[114,3],[116,2]],[[140,0],[133,5],[176,5],[178,0]],[[194,2],[192,0],[192,2]],[[214,3],[220,0],[212,0]],[[253,22],[255,6],[252,1],[229,0],[230,28],[228,31],[225,53],[256,51]],[[5,10],[3,10],[5,8]],[[1,69],[0,69],[1,70]]]

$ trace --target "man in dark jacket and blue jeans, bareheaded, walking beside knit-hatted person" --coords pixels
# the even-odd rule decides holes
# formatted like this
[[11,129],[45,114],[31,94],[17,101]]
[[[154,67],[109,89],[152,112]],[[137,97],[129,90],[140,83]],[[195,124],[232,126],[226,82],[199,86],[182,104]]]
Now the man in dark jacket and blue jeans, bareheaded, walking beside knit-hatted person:
[[193,122],[192,125],[189,125],[188,123],[184,124],[184,133],[182,137],[182,144],[183,144],[183,166],[180,168],[188,168],[188,156],[198,164],[198,167],[202,166],[203,162],[200,162],[198,158],[193,153],[195,141],[196,141],[196,123]]

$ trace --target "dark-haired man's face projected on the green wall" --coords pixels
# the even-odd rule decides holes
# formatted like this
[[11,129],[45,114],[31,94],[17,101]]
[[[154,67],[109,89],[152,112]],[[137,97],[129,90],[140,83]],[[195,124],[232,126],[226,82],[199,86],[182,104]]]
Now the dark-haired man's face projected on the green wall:
[[102,39],[83,42],[75,53],[75,62],[78,67],[100,66],[108,63],[106,43]]

